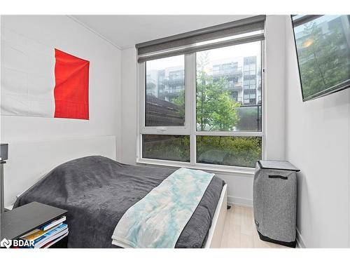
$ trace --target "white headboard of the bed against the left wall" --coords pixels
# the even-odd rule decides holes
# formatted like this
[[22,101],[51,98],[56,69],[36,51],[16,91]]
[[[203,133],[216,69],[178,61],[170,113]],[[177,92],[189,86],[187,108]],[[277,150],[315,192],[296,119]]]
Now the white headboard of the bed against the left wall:
[[90,155],[116,160],[116,137],[81,137],[38,142],[8,142],[4,165],[5,206],[61,163]]

